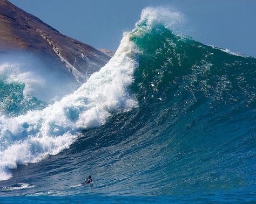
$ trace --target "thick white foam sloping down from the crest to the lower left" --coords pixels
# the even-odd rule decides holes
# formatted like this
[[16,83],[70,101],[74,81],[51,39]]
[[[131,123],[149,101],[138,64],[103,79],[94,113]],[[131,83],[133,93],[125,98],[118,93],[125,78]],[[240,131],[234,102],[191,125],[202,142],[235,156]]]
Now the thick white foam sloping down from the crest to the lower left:
[[127,92],[137,67],[135,54],[130,33],[124,33],[109,63],[76,92],[42,111],[0,116],[0,180],[9,179],[10,169],[17,164],[35,163],[68,148],[79,130],[102,125],[113,112],[136,107],[136,100]]

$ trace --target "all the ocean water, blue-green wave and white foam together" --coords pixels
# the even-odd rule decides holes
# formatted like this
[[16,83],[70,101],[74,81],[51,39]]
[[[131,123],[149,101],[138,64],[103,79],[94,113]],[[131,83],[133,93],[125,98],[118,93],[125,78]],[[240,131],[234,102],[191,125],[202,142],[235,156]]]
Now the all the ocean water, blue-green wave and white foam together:
[[2,73],[0,202],[256,200],[256,59],[177,34],[182,19],[143,10],[113,58],[55,102]]

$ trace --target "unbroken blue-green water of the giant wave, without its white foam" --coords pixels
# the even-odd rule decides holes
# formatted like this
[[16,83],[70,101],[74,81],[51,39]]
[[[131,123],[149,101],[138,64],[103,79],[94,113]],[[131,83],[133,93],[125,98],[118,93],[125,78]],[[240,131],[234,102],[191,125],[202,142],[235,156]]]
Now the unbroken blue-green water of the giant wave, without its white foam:
[[[56,155],[19,161],[12,177],[0,182],[0,194],[11,196],[1,202],[255,201],[256,59],[147,18],[129,41],[136,54],[122,60],[136,61],[136,69],[129,94],[120,98],[128,95],[137,105],[110,109],[104,123],[80,129],[80,137]],[[78,121],[78,109],[69,110]],[[87,175],[93,186],[72,187]]]

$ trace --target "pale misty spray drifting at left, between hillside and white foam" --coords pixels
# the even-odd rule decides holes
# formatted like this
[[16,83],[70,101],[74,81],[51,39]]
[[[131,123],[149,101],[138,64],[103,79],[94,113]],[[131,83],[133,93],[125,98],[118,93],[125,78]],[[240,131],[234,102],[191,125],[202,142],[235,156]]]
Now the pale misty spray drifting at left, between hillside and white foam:
[[[41,58],[21,51],[0,54],[0,83],[3,84],[2,92],[8,92],[8,89],[5,90],[5,84],[16,83],[24,86],[24,98],[33,96],[45,103],[60,100],[80,86],[68,69],[55,64],[46,65]],[[10,94],[16,94],[15,90]],[[24,115],[23,112],[17,114]]]

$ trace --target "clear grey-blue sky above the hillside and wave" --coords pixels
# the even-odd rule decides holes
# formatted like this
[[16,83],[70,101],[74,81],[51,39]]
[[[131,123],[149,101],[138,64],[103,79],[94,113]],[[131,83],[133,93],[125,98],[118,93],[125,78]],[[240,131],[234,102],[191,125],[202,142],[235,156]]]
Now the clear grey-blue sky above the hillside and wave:
[[115,51],[147,6],[179,11],[179,32],[207,45],[256,57],[255,0],[9,0],[60,33]]

